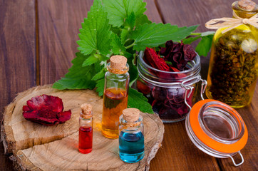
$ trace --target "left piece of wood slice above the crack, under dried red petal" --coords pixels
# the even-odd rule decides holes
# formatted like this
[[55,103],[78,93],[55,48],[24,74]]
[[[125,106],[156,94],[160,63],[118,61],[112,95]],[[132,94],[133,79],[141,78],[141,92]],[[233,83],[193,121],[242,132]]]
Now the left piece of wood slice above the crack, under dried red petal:
[[[72,111],[71,119],[66,123],[54,126],[44,126],[24,119],[22,107],[26,105],[26,101],[42,94],[61,98],[64,110],[71,109]],[[48,85],[19,93],[14,102],[8,105],[4,111],[4,123],[1,131],[6,152],[16,153],[17,150],[58,140],[76,133],[82,103],[91,103],[96,113],[101,112],[102,100],[91,90],[56,90]]]

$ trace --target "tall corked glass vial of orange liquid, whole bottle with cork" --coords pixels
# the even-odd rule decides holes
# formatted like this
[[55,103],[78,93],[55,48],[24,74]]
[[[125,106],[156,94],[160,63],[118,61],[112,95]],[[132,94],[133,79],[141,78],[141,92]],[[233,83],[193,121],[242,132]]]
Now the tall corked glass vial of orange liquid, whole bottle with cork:
[[102,134],[118,138],[119,116],[128,105],[129,66],[124,56],[112,56],[105,73]]

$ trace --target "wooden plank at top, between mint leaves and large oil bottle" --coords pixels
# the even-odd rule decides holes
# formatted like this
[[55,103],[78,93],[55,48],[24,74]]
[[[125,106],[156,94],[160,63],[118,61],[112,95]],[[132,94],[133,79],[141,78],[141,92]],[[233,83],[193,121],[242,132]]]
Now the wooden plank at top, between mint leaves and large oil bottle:
[[205,23],[210,19],[232,17],[231,4],[234,0],[157,0],[160,14],[165,23],[177,26],[193,26],[200,24],[197,31],[207,31]]

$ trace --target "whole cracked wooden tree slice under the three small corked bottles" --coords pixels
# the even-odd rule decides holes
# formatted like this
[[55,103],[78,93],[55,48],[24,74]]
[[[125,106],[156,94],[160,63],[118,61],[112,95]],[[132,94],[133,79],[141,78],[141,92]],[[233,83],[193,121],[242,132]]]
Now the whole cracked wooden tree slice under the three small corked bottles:
[[[54,95],[63,100],[64,110],[72,110],[71,120],[54,126],[45,126],[25,120],[22,106],[36,95]],[[82,103],[93,105],[93,151],[78,152],[78,117]],[[164,125],[158,115],[143,115],[145,157],[128,164],[120,160],[118,139],[101,134],[103,99],[92,90],[56,90],[38,86],[19,93],[6,106],[1,126],[1,139],[6,152],[13,153],[16,170],[148,170],[150,160],[161,145]]]

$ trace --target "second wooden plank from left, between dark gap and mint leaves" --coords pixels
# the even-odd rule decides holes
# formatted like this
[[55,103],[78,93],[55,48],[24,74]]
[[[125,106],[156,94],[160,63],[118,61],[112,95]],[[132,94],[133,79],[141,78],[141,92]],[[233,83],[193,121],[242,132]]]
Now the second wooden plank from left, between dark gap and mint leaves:
[[54,83],[72,66],[81,22],[93,0],[38,0],[41,85]]

